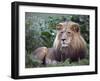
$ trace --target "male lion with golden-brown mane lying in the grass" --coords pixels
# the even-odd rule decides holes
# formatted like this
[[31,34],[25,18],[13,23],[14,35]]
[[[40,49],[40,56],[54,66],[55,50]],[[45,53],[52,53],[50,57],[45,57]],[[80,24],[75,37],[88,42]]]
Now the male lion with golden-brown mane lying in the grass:
[[43,64],[56,64],[70,59],[78,61],[86,55],[86,42],[80,34],[79,24],[68,21],[57,25],[57,34],[52,48],[40,47],[34,57]]

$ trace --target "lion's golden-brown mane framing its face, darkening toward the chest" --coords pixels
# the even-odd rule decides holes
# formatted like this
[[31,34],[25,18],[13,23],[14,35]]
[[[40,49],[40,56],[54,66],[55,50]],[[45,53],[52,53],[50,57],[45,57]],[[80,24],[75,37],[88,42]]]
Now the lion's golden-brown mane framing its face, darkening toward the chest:
[[53,47],[60,50],[66,55],[66,58],[71,58],[72,60],[77,60],[78,58],[84,58],[86,54],[86,42],[80,34],[80,28],[77,23],[68,22],[66,30],[69,29],[73,32],[72,41],[70,45],[66,48],[62,48],[60,44],[59,31],[57,32],[56,38],[54,40]]

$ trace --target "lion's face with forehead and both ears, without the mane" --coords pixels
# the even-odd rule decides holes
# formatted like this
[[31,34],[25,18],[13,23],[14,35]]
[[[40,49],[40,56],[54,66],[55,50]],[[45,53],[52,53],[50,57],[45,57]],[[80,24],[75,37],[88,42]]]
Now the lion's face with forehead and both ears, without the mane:
[[59,23],[57,30],[60,46],[64,48],[70,46],[74,35],[79,34],[79,25],[74,22]]

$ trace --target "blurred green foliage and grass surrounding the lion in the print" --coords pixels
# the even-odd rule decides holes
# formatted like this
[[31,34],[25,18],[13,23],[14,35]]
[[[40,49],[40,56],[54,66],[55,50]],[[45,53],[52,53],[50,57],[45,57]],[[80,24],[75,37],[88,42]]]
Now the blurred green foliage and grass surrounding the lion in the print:
[[59,22],[73,21],[80,24],[81,35],[87,42],[88,54],[80,63],[69,60],[57,65],[48,66],[72,66],[89,64],[89,16],[88,15],[70,15],[54,13],[25,13],[25,67],[41,67],[43,65],[31,59],[31,53],[38,47],[52,47],[56,36],[56,25]]

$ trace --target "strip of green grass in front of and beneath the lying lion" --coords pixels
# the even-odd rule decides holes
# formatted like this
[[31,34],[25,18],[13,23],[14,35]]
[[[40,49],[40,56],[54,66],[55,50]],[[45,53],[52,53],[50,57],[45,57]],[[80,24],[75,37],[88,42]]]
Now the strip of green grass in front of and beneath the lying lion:
[[49,65],[42,65],[36,59],[31,59],[30,56],[26,56],[26,68],[35,68],[35,67],[59,67],[59,66],[81,66],[81,65],[89,65],[89,59],[85,58],[80,61],[71,62],[67,59],[64,62],[59,62],[57,64],[49,64]]

